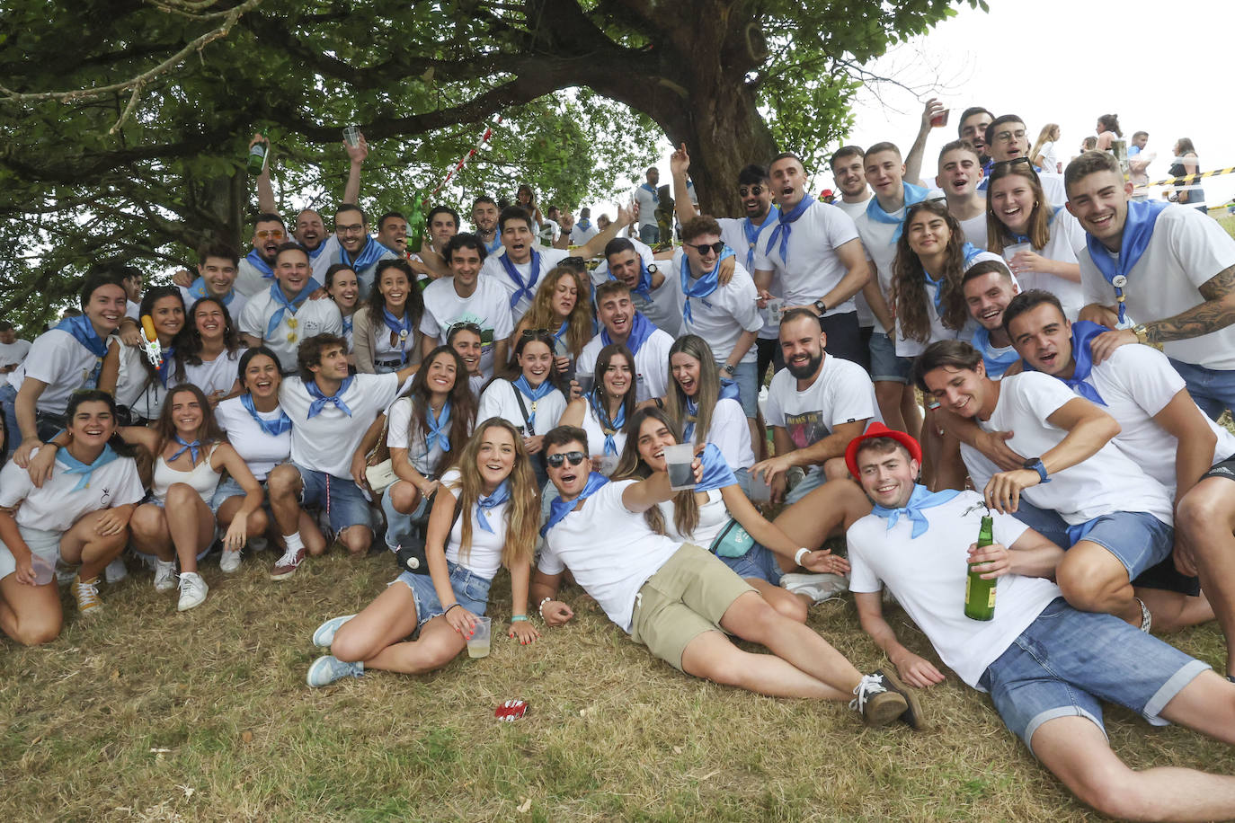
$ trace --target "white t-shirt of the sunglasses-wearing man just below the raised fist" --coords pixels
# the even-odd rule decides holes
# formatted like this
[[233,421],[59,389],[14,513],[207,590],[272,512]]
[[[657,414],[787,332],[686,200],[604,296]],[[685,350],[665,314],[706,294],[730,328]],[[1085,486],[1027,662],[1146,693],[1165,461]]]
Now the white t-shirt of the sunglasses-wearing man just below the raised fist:
[[[669,270],[664,273],[664,286],[673,294],[677,304],[678,316],[682,317],[683,332],[698,334],[708,341],[713,357],[718,364],[729,360],[730,353],[737,345],[737,338],[742,332],[758,332],[763,328],[763,316],[760,315],[757,305],[758,296],[755,294],[755,280],[742,267],[741,262],[734,265],[734,276],[729,285],[716,286],[706,297],[690,297],[690,320],[685,320],[687,296],[682,291],[682,262],[685,252],[678,249],[673,254]],[[689,264],[687,269],[689,269]],[[689,283],[695,280],[687,275]],[[756,348],[753,344],[742,355],[742,363],[755,363]]]

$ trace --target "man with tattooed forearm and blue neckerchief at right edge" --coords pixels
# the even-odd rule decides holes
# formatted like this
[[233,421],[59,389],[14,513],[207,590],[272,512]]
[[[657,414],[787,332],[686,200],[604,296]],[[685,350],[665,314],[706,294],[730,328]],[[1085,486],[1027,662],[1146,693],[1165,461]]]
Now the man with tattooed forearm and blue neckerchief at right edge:
[[1094,341],[1094,360],[1128,343],[1162,344],[1209,417],[1235,408],[1235,239],[1194,209],[1130,202],[1108,152],[1072,160],[1065,180],[1068,211],[1088,233],[1081,320],[1119,329]]

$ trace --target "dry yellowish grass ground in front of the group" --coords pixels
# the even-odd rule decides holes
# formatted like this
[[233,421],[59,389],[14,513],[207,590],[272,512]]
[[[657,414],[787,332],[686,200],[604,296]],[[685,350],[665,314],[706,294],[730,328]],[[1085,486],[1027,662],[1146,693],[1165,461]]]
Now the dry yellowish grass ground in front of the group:
[[[631,644],[578,589],[569,626],[426,677],[304,685],[319,622],[363,607],[389,556],[311,559],[285,584],[270,555],[178,614],[147,571],[106,586],[106,614],[0,655],[0,819],[11,821],[1083,821],[988,701],[955,676],[923,696],[932,730],[867,730],[840,705],[692,680]],[[510,613],[508,577],[490,613]],[[960,603],[958,603],[960,607]],[[932,656],[893,612],[899,633]],[[811,624],[861,669],[887,661],[851,601]],[[1221,665],[1220,634],[1176,638]],[[494,719],[503,700],[531,709]],[[1135,766],[1235,774],[1191,732],[1109,713]]]

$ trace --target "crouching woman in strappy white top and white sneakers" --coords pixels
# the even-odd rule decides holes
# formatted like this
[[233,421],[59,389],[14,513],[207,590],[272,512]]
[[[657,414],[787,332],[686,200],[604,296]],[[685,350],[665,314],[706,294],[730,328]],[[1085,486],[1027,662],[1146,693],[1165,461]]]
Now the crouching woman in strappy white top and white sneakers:
[[[220,475],[226,470],[245,490],[245,502],[224,536],[225,552],[243,548],[248,516],[262,505],[262,486],[224,438],[201,389],[193,384],[177,386],[163,406],[153,427],[128,427],[121,436],[154,455],[152,500],[133,512],[133,548],[156,558],[154,591],[177,586],[175,561],[180,560],[178,610],[183,612],[201,605],[209,591],[198,574],[198,556],[215,539],[210,501]],[[175,516],[168,517],[168,511]]]

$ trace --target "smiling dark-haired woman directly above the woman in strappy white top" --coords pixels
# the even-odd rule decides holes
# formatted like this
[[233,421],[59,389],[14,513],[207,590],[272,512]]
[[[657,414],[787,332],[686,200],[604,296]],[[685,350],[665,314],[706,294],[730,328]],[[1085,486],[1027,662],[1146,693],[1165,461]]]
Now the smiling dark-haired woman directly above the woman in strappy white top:
[[175,383],[201,389],[211,406],[240,394],[236,363],[245,352],[231,312],[221,300],[201,297],[175,338]]

